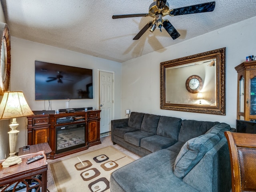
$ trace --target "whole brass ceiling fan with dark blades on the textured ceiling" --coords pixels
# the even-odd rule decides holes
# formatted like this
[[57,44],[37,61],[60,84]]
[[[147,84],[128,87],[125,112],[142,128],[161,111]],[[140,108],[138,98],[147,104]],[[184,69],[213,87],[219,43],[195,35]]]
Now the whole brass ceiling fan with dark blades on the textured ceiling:
[[150,32],[154,32],[156,26],[160,28],[164,27],[165,30],[170,34],[172,39],[176,39],[180,36],[179,32],[174,28],[174,26],[167,20],[163,19],[164,16],[177,16],[177,15],[185,15],[185,14],[193,14],[193,13],[203,13],[203,12],[211,12],[215,8],[215,1],[197,4],[182,8],[169,9],[169,4],[166,0],[156,0],[150,6],[148,13],[146,14],[126,14],[126,15],[113,15],[113,19],[118,18],[129,18],[129,17],[147,17],[151,16],[154,18],[153,21],[148,22],[142,30],[133,38],[133,40],[138,40],[145,32],[150,28]]

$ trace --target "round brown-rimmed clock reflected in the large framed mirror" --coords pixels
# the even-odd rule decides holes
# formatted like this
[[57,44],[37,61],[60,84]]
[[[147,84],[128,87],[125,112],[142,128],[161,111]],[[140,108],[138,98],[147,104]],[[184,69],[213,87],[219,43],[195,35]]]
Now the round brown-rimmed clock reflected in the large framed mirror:
[[186,89],[190,93],[198,93],[203,88],[204,82],[198,75],[189,76],[186,80]]

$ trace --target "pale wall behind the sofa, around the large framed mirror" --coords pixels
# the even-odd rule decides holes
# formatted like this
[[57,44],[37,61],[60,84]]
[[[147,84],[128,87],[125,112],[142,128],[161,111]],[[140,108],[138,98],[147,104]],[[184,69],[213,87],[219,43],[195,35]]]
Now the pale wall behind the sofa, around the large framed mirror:
[[[237,72],[256,55],[256,17],[122,63],[122,117],[125,109],[182,119],[226,122],[236,127]],[[170,40],[172,40],[170,38]],[[226,47],[226,116],[160,109],[160,62]],[[184,82],[185,83],[185,82]]]

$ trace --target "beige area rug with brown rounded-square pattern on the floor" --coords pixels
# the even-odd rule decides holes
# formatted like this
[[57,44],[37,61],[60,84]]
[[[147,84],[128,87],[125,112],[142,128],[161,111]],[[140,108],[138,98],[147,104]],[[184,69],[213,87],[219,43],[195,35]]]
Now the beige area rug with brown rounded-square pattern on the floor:
[[49,165],[58,192],[109,192],[111,173],[133,161],[108,146]]

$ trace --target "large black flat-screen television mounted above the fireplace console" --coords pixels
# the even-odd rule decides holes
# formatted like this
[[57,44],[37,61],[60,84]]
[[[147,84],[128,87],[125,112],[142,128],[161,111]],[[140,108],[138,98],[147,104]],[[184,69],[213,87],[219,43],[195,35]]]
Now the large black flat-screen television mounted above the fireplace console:
[[35,99],[92,99],[92,69],[35,61]]

